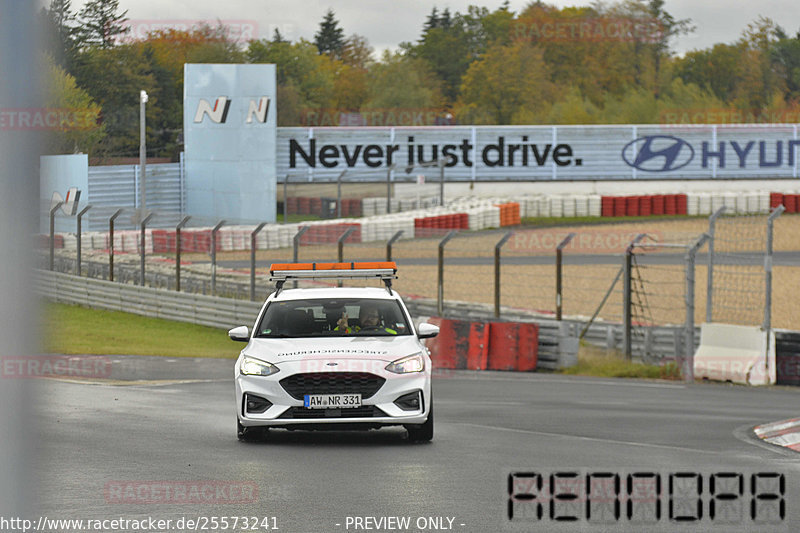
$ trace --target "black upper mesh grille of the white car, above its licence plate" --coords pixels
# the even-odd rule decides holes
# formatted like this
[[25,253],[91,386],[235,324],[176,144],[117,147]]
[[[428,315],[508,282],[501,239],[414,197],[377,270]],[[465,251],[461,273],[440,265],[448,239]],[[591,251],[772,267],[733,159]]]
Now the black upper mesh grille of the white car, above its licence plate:
[[280,384],[295,400],[302,400],[306,394],[361,394],[366,399],[385,381],[369,372],[311,372],[283,378]]

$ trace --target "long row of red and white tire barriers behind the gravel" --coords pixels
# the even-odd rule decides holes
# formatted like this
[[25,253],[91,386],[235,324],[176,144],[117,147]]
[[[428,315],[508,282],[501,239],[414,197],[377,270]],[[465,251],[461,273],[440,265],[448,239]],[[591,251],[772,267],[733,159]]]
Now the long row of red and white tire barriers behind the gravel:
[[[300,208],[299,199],[298,209]],[[305,201],[307,200],[307,201]],[[303,209],[313,209],[316,202],[306,198]],[[368,200],[385,199],[364,198],[361,207],[352,202],[347,210],[368,215],[376,210],[380,202],[369,204]],[[438,199],[435,199],[438,200]],[[397,200],[398,206],[406,200]],[[414,200],[416,205],[416,200]],[[352,204],[352,205],[351,205]],[[451,230],[479,231],[490,228],[515,226],[523,218],[533,217],[647,217],[647,216],[707,216],[725,207],[731,214],[766,214],[778,205],[784,205],[786,213],[800,213],[800,191],[792,192],[690,192],[685,194],[654,194],[634,196],[600,196],[592,194],[576,195],[534,195],[521,196],[514,201],[508,198],[467,197],[454,199],[445,206],[431,206],[423,209],[402,211],[389,215],[373,214],[360,218],[340,218],[315,220],[292,224],[270,224],[256,237],[259,250],[289,248],[294,236],[302,226],[308,226],[304,244],[335,244],[348,228],[357,230],[348,237],[347,242],[386,241],[398,231],[404,238],[433,237]],[[344,204],[343,204],[344,206]],[[393,208],[394,210],[394,208]],[[254,226],[223,226],[217,236],[218,251],[242,251],[250,249],[250,233]],[[181,232],[181,251],[209,253],[211,250],[211,228],[184,228]],[[108,250],[106,232],[86,232],[83,234],[84,249]],[[41,246],[47,246],[45,236],[40,239]],[[176,233],[174,229],[147,229],[145,249],[148,253],[174,253]],[[57,234],[55,248],[75,250],[74,234]],[[114,234],[114,250],[139,253],[139,230],[118,230]]]

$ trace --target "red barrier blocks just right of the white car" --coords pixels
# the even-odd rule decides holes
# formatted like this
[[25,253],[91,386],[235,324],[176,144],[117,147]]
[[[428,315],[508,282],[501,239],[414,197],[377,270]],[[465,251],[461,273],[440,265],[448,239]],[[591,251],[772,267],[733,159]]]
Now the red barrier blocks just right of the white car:
[[536,370],[539,326],[528,322],[482,322],[432,317],[439,335],[427,341],[434,368]]

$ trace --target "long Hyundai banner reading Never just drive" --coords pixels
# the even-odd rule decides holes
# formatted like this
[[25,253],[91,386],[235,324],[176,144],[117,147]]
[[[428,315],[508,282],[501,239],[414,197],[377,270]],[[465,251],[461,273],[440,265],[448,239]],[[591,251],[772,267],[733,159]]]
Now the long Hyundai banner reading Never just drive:
[[[448,180],[797,178],[797,124],[280,128],[278,176],[443,160]],[[400,174],[398,174],[400,175]]]

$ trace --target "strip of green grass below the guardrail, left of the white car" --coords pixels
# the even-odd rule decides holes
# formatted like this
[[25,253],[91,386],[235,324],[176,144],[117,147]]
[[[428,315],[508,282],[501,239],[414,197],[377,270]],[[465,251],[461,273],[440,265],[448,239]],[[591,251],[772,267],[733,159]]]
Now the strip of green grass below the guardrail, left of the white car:
[[51,353],[235,358],[244,347],[221,329],[119,311],[48,303],[44,318]]

